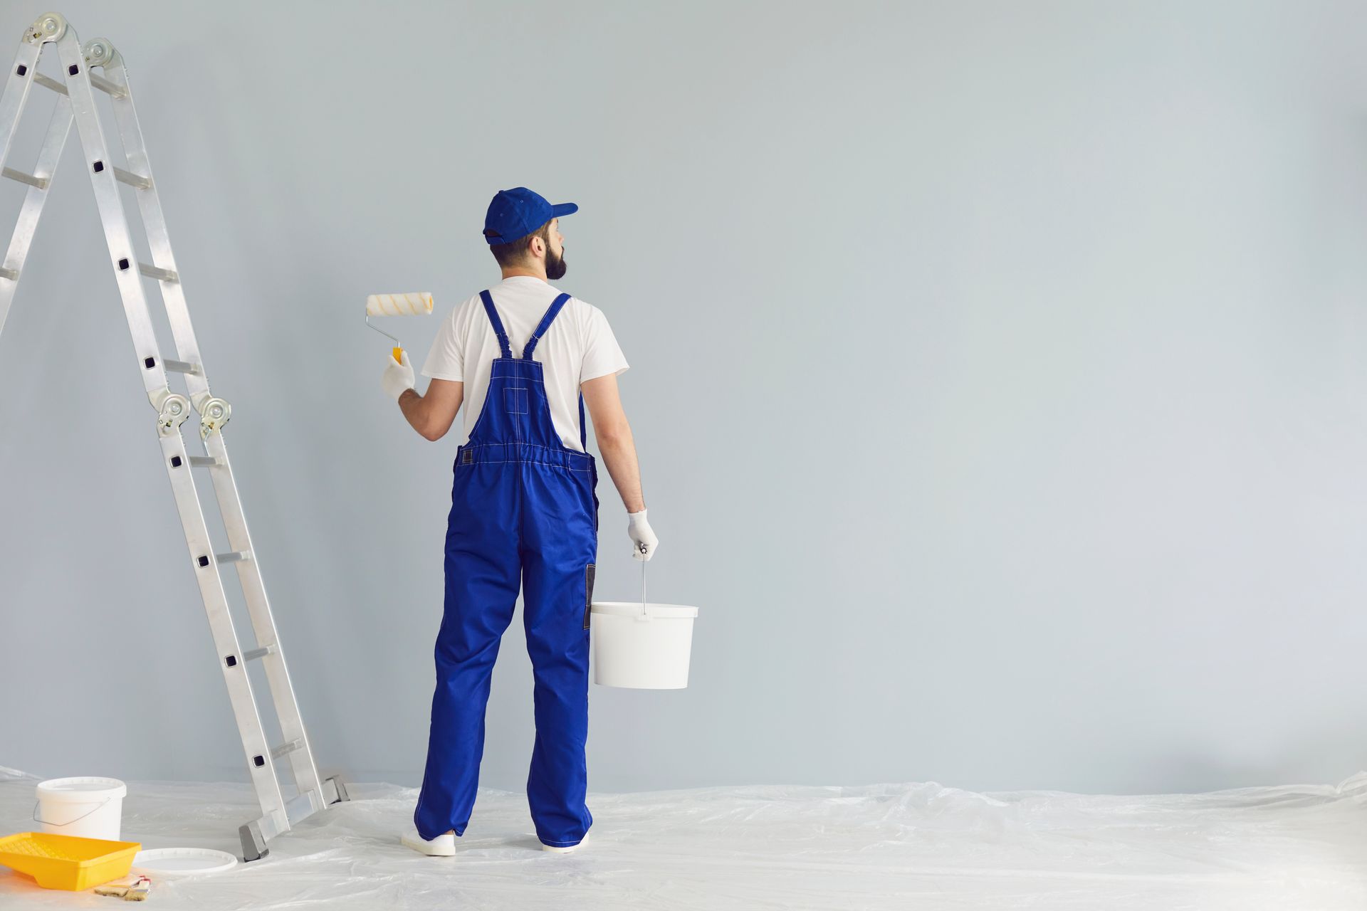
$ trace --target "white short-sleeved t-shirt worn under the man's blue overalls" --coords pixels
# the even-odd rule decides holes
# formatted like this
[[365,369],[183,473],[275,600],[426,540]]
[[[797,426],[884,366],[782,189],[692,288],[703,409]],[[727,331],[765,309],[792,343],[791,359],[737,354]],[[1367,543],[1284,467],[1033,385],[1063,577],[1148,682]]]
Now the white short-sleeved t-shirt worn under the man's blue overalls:
[[[514,358],[522,356],[522,348],[559,294],[558,288],[533,276],[513,276],[489,288]],[[478,294],[451,310],[432,340],[422,376],[465,384],[462,447],[469,443],[470,430],[484,408],[493,358],[499,356],[499,337],[493,335],[493,324],[489,322]],[[630,366],[617,344],[607,317],[597,307],[570,298],[536,343],[532,359],[543,365],[545,397],[551,403],[555,432],[566,447],[582,452],[580,384],[610,373],[619,374]]]

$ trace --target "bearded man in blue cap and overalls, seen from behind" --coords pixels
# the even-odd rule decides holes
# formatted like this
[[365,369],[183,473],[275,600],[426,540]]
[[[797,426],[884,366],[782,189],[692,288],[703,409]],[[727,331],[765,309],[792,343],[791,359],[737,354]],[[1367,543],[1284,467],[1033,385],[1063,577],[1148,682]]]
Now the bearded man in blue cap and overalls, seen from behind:
[[593,822],[584,803],[584,743],[599,500],[585,402],[629,514],[632,556],[649,560],[659,544],[645,520],[636,445],[618,399],[626,358],[601,310],[548,284],[566,269],[560,217],[577,210],[526,187],[499,191],[484,238],[503,281],[442,324],[422,367],[432,378],[427,395],[413,389],[406,352],[402,363],[387,358],[381,380],[413,429],[433,441],[451,428],[470,384],[447,519],[427,772],[416,830],[401,839],[427,855],[455,854],[455,836],[469,824],[489,676],[519,585],[536,677],[526,781],[536,835],[544,850],[566,854]]

